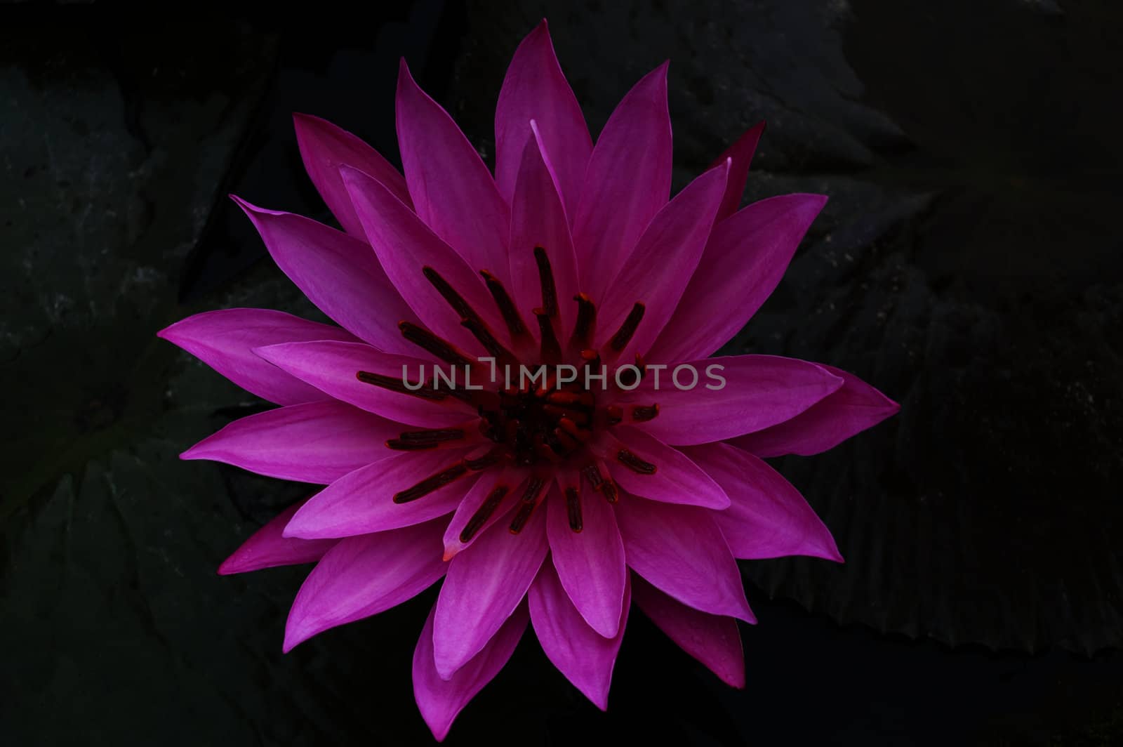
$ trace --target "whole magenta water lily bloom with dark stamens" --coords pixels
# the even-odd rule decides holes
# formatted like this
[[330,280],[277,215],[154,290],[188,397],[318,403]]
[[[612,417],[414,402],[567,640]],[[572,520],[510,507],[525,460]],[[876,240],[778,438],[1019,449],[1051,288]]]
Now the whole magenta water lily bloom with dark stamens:
[[[220,573],[316,563],[285,650],[444,579],[413,656],[437,739],[528,625],[604,709],[632,601],[742,686],[736,621],[755,618],[736,558],[841,561],[761,457],[822,452],[897,410],[830,366],[707,357],[779,282],[825,198],[738,210],[760,126],[670,198],[666,65],[594,146],[545,21],[500,92],[494,176],[404,62],[396,122],[404,176],[353,135],[295,117],[341,231],[238,200],[338,327],[228,309],[161,332],[281,406],[183,458],[327,485]],[[495,362],[554,373],[495,380]],[[558,364],[594,379],[567,381]],[[711,366],[720,386],[669,383]],[[627,384],[614,375],[626,368]],[[442,388],[438,373],[457,370],[478,383]]]

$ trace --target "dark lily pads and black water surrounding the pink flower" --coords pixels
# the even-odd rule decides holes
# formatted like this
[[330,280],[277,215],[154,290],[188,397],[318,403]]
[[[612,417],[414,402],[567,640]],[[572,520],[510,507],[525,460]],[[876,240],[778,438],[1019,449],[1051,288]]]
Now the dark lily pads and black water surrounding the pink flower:
[[670,58],[676,186],[768,121],[747,199],[831,201],[728,349],[903,409],[777,461],[848,563],[742,564],[743,691],[636,613],[606,714],[528,635],[448,744],[1123,744],[1119,2],[0,13],[4,744],[429,741],[409,662],[433,590],[283,656],[304,570],[214,568],[307,488],[176,459],[263,403],[154,332],[320,318],[225,195],[330,220],[290,112],[396,161],[401,55],[490,160],[544,16],[594,135]]

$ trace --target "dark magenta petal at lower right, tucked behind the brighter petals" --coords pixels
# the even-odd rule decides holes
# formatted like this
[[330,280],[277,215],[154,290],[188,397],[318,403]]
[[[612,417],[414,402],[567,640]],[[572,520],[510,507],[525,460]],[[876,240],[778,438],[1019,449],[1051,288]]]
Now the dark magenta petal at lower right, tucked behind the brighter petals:
[[686,607],[632,575],[632,598],[659,630],[733,687],[745,686],[745,652],[737,620]]

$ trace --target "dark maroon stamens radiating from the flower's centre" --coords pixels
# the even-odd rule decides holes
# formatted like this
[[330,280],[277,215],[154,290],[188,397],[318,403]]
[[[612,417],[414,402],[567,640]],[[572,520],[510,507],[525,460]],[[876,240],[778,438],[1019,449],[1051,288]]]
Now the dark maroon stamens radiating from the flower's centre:
[[[573,531],[581,531],[584,526],[579,489],[582,479],[588,483],[594,493],[601,494],[610,503],[615,503],[619,500],[619,489],[609,476],[603,461],[595,457],[586,446],[593,439],[594,434],[621,422],[624,418],[624,411],[617,404],[597,407],[593,390],[586,386],[588,379],[578,375],[576,381],[568,381],[557,374],[556,366],[567,359],[573,361],[576,364],[574,367],[584,374],[590,370],[600,372],[604,363],[615,363],[639,327],[640,320],[643,318],[645,307],[638,302],[632,306],[620,328],[609,338],[602,357],[601,352],[593,347],[596,306],[587,294],[577,293],[573,299],[577,303],[576,320],[573,332],[566,346],[563,347],[557,335],[562,324],[554,272],[546,249],[537,246],[533,252],[542,299],[541,306],[532,310],[539,329],[537,358],[539,364],[548,366],[542,381],[532,379],[528,384],[524,377],[519,376],[515,381],[500,382],[495,390],[457,388],[455,385],[438,386],[436,382],[428,382],[420,386],[407,386],[402,379],[366,371],[357,372],[359,381],[390,391],[430,401],[440,401],[449,397],[456,398],[472,406],[480,416],[477,428],[466,426],[405,431],[400,434],[398,438],[387,440],[389,448],[414,452],[467,446],[473,440],[492,444],[491,448],[481,456],[457,459],[421,482],[399,491],[394,494],[394,502],[407,503],[418,500],[451,482],[487,467],[496,465],[528,467],[530,477],[523,484],[518,509],[510,523],[510,531],[519,534],[530,519],[535,508],[545,498],[546,489],[554,479],[554,467],[573,461],[577,462],[569,473],[577,477],[574,484],[563,489],[566,516]],[[449,307],[459,315],[460,325],[480,341],[487,355],[494,361],[493,365],[508,370],[523,366],[524,362],[520,359],[519,355],[499,340],[483,317],[436,270],[426,266],[422,267],[422,273]],[[532,357],[535,354],[533,337],[523,322],[511,295],[494,274],[483,270],[481,275],[506,326],[512,347],[523,357]],[[465,371],[475,368],[481,374],[487,370],[480,359],[423,327],[402,321],[399,322],[399,329],[407,340],[444,363]],[[639,355],[636,356],[636,368],[642,377],[645,365]],[[494,368],[491,370],[494,372]],[[486,379],[485,375],[482,377]],[[629,415],[632,421],[643,421],[655,418],[658,412],[658,404],[633,406]],[[478,430],[478,434],[474,432],[474,428]],[[617,463],[639,474],[649,475],[656,472],[656,465],[628,449],[620,448],[610,456]],[[511,490],[511,485],[504,484],[496,484],[491,490],[465,525],[460,532],[460,541],[467,543],[480,531]]]

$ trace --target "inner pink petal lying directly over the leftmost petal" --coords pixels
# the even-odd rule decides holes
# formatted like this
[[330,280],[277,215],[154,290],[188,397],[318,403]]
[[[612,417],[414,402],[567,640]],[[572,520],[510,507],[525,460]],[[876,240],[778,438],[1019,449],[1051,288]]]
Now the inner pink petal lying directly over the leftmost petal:
[[[396,381],[402,381],[404,376],[411,384],[417,384],[422,367],[426,379],[432,377],[432,364],[419,358],[380,353],[363,343],[292,343],[259,347],[255,352],[332,398],[390,420],[439,428],[472,417],[472,409],[453,397],[421,399],[366,384],[357,377],[358,372],[365,371]],[[459,373],[463,375],[463,371]]]

